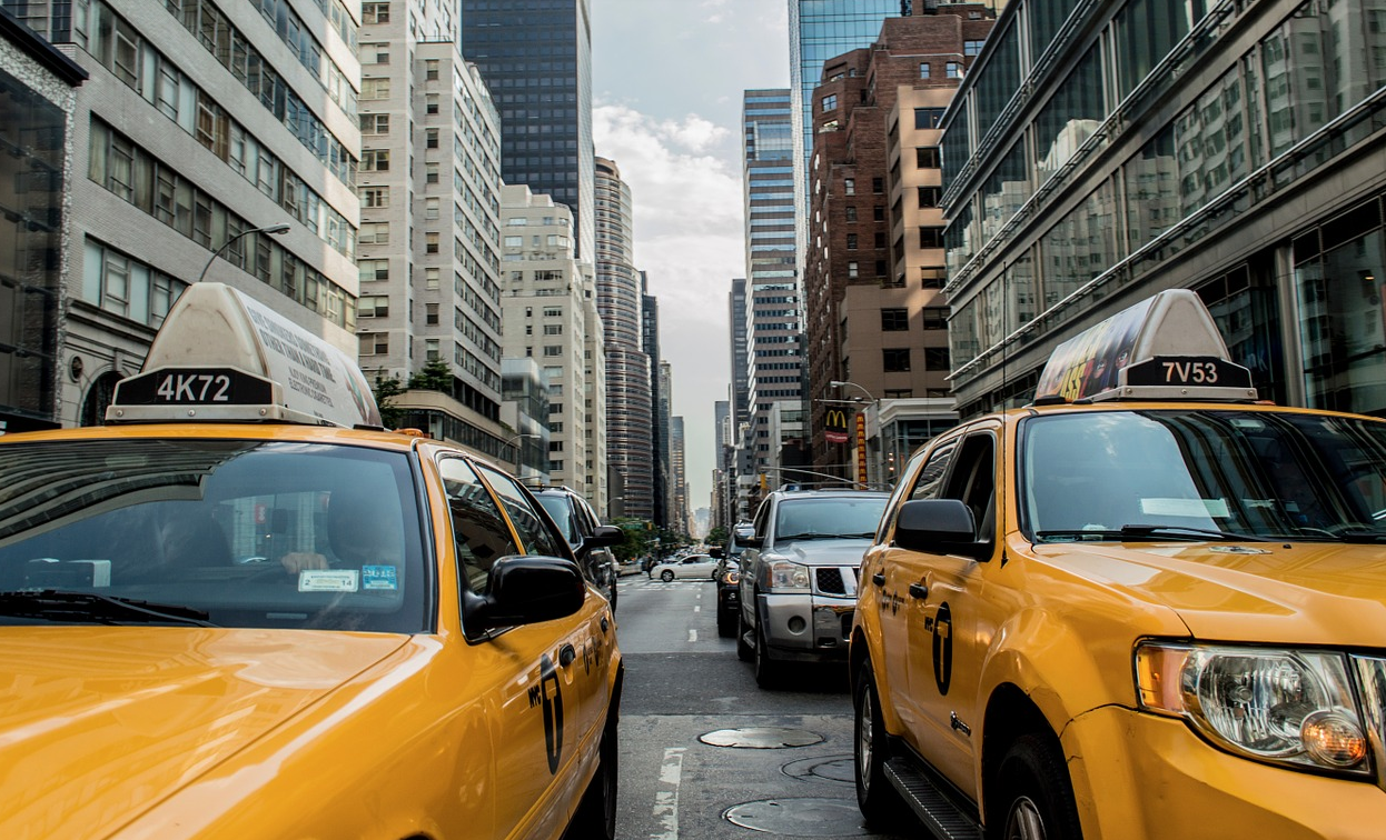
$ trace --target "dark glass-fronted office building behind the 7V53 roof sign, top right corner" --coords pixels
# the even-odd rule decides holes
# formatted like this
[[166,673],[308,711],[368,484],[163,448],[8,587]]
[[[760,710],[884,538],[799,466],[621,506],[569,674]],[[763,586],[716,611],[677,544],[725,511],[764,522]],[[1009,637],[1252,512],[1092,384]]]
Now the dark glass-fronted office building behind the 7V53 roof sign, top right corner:
[[959,412],[1192,288],[1263,397],[1386,412],[1386,1],[1010,3],[944,118]]

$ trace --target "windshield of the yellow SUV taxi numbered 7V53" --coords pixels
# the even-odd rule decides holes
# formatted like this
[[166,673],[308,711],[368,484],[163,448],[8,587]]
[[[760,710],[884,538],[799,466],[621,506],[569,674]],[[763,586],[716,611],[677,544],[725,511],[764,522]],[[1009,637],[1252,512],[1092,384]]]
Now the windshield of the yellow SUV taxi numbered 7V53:
[[1386,423],[1209,410],[1034,418],[1020,504],[1041,541],[1374,541],[1386,538]]

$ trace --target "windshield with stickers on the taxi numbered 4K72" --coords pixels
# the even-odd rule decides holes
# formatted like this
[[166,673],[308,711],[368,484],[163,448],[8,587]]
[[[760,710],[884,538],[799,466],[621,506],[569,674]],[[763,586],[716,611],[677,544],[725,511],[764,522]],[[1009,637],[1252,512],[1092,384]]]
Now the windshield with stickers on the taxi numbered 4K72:
[[148,623],[121,612],[129,601],[220,627],[431,620],[403,453],[164,439],[0,453],[0,624]]

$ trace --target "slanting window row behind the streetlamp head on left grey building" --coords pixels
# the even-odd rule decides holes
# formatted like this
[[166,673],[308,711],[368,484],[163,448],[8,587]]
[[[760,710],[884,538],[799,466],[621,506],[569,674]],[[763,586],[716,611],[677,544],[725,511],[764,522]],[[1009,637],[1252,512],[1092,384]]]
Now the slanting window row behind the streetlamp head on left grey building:
[[208,250],[216,252],[230,242],[222,259],[333,324],[355,329],[356,304],[351,295],[274,242],[273,237],[241,237],[256,226],[94,118],[87,177]]

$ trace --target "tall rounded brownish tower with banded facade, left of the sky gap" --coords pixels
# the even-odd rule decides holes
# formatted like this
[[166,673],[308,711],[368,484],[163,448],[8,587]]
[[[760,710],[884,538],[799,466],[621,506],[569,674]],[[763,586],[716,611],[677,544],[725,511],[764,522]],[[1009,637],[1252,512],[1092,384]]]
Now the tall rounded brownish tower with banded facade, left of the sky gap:
[[631,188],[596,159],[597,311],[606,331],[607,457],[613,516],[654,518],[654,407],[643,350],[640,277],[631,248]]

